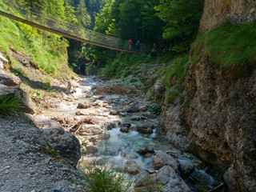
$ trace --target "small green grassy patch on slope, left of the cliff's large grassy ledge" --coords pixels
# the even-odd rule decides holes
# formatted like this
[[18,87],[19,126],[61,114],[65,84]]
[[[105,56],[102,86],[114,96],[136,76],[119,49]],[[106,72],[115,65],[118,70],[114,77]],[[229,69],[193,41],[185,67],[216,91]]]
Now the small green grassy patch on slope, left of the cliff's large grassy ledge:
[[167,73],[163,80],[163,84],[166,87],[170,85],[175,85],[176,83],[181,83],[185,77],[186,66],[189,62],[189,55],[184,54],[174,59],[174,62],[170,66],[167,66]]

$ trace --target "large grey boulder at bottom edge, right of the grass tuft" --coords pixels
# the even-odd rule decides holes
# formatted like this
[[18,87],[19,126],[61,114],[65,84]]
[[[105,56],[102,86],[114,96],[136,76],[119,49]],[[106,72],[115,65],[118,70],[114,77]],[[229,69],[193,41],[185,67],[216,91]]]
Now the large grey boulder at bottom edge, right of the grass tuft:
[[148,189],[148,191],[157,191],[158,184],[162,184],[162,189],[166,192],[190,192],[190,188],[180,178],[170,166],[163,166],[155,174],[150,174],[146,178],[142,178],[135,184],[138,189],[140,187]]

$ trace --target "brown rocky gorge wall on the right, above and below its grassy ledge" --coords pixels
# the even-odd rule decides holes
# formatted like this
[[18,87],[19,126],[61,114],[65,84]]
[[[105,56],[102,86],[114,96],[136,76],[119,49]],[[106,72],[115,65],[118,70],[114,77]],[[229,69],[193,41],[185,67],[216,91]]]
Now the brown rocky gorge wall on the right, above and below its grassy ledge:
[[[226,2],[205,1],[199,34],[225,21],[256,19],[255,1]],[[214,168],[229,191],[256,191],[256,70],[234,80],[214,66],[210,55],[190,61],[182,94],[162,105],[160,131]]]

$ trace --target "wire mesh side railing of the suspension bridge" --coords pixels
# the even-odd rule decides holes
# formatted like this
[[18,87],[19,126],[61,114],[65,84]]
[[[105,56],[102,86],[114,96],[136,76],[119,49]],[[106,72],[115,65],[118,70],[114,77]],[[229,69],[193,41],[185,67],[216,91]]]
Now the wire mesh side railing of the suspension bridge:
[[94,30],[86,29],[85,27],[75,25],[71,22],[66,22],[62,19],[55,18],[50,14],[43,13],[30,6],[26,6],[24,3],[18,0],[2,0],[6,3],[6,6],[1,7],[1,10],[6,14],[14,15],[18,18],[25,19],[28,22],[33,22],[39,26],[47,27],[51,30],[56,30],[62,34],[69,34],[76,38],[81,38],[87,42],[93,42],[110,46],[117,49],[122,49],[122,40],[114,38],[106,34],[100,34]]

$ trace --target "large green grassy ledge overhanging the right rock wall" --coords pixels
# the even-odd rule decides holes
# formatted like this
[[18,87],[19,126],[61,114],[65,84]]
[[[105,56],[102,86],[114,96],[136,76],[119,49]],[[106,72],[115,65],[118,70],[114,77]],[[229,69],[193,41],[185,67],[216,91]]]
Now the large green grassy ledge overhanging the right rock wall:
[[228,70],[231,78],[244,77],[256,63],[256,22],[219,26],[203,34],[192,45],[192,59],[210,55],[215,69]]

